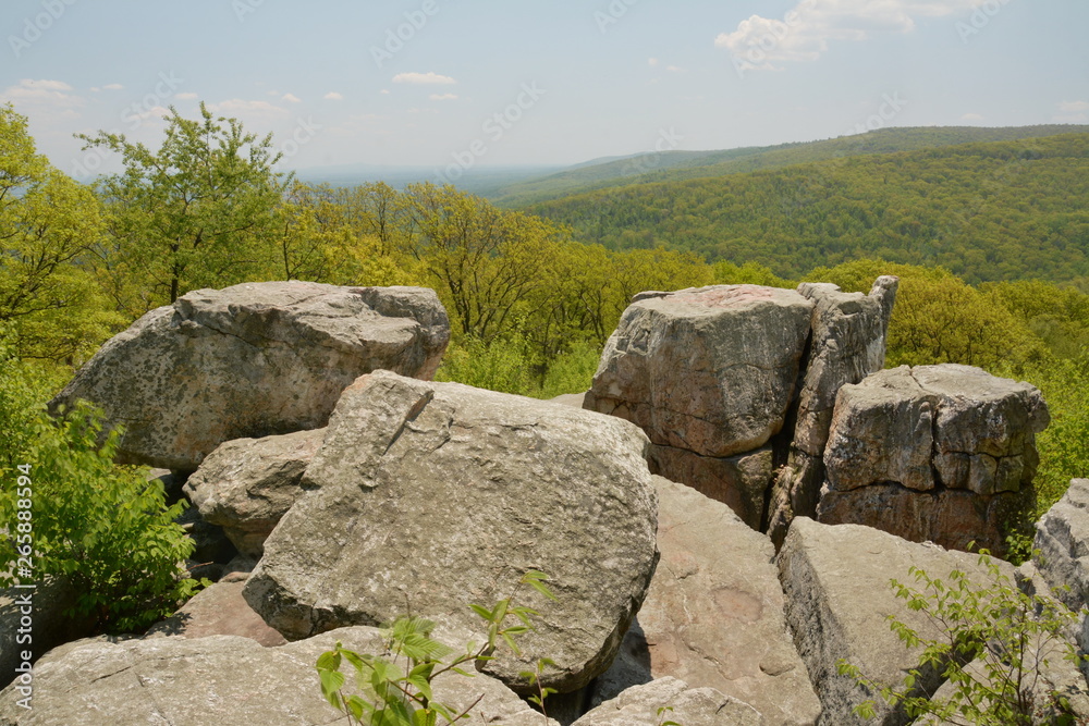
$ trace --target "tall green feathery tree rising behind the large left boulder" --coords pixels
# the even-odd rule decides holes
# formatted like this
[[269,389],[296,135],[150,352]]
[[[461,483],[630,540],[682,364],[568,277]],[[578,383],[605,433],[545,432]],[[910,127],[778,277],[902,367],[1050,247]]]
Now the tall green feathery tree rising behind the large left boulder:
[[124,172],[100,185],[110,212],[100,269],[130,315],[259,279],[277,259],[276,211],[291,179],[274,170],[271,134],[258,138],[204,103],[200,120],[170,112],[158,151],[121,134],[78,135],[85,149],[122,156]]

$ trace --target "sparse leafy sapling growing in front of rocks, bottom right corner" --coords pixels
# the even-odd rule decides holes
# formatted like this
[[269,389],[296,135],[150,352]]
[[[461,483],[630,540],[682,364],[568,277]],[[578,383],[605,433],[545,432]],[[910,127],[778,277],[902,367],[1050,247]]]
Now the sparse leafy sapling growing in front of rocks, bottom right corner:
[[[1056,655],[1080,662],[1077,649],[1064,637],[1080,614],[1052,598],[1021,592],[986,551],[979,563],[989,575],[987,587],[974,586],[962,570],[953,570],[943,581],[917,567],[909,573],[922,583],[921,590],[892,580],[896,596],[922,612],[942,633],[928,640],[889,616],[890,627],[907,648],[922,647],[918,666],[902,685],[878,682],[846,661],[839,662],[840,674],[880,693],[890,705],[903,705],[910,718],[1008,726],[1032,724],[1035,716],[1073,724],[1068,694],[1051,688],[1044,672]],[[946,698],[925,692],[925,670],[941,673],[952,686]],[[855,712],[872,718],[874,702],[866,701]]]

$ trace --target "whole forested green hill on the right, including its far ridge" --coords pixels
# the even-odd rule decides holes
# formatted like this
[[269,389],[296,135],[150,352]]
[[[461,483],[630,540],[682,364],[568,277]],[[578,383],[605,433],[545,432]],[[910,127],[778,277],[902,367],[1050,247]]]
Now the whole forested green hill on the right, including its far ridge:
[[[1082,133],[1053,133],[1070,128]],[[969,282],[1089,280],[1087,132],[901,128],[702,159],[688,152],[636,184],[603,173],[617,163],[608,162],[563,177],[597,174],[602,188],[524,209],[571,225],[583,242],[756,261],[791,278],[882,257],[942,264]],[[956,143],[987,135],[1015,140]],[[646,181],[654,177],[664,181]]]

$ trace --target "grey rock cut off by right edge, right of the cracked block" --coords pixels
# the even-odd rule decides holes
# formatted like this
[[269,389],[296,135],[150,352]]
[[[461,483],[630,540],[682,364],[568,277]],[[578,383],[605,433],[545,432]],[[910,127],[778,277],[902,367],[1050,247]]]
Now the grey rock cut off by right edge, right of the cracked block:
[[1072,610],[1089,605],[1089,479],[1070,481],[1036,524],[1032,546],[1040,551],[1037,569],[1055,596]]

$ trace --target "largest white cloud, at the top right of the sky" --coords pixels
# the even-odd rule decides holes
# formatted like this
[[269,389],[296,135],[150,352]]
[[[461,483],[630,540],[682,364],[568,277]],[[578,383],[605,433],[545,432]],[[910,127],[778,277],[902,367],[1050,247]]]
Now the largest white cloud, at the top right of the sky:
[[800,0],[783,17],[752,15],[714,45],[741,70],[782,70],[782,63],[816,61],[829,41],[866,40],[881,33],[910,33],[916,19],[972,10],[980,0]]

